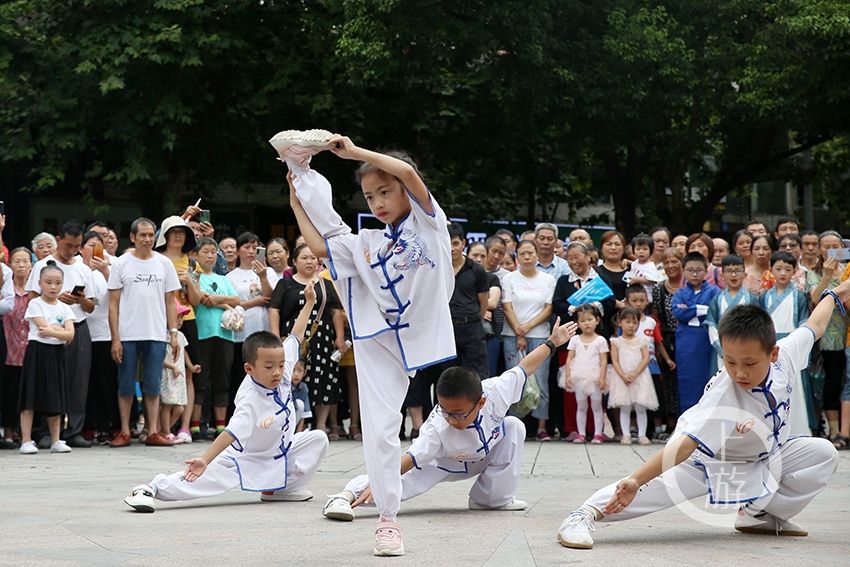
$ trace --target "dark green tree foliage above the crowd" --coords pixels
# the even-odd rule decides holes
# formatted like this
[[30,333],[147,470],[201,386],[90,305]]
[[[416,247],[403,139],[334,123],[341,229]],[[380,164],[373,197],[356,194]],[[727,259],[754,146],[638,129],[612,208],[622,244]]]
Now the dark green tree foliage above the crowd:
[[0,162],[161,207],[279,179],[266,140],[326,127],[410,150],[475,219],[611,195],[627,232],[690,230],[810,148],[838,179],[848,38],[850,0],[16,0]]

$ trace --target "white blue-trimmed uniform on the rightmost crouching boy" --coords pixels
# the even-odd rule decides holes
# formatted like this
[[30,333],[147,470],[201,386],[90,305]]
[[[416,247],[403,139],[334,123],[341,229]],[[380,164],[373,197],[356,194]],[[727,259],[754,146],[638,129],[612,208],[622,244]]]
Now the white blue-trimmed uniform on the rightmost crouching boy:
[[[838,466],[838,453],[826,439],[789,437],[786,422],[796,375],[809,364],[814,333],[797,329],[780,340],[762,386],[744,390],[726,370],[709,381],[699,403],[679,418],[671,436],[688,435],[697,451],[642,486],[622,512],[602,521],[627,520],[657,512],[697,496],[710,504],[751,503],[787,520],[799,514],[826,487]],[[617,483],[591,496],[585,505],[601,511]]]

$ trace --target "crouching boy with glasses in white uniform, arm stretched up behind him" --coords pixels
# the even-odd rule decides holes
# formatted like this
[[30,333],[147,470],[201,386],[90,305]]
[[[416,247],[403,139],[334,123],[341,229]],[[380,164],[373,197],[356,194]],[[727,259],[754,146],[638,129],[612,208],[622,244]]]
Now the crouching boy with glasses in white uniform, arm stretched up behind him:
[[[575,334],[575,323],[555,321],[549,339],[520,363],[494,378],[480,380],[466,368],[449,368],[437,382],[438,405],[401,456],[402,500],[427,492],[440,482],[477,477],[469,491],[471,510],[524,510],[516,498],[522,468],[525,425],[507,416],[522,397],[525,382]],[[545,370],[545,369],[544,369]],[[361,475],[328,496],[322,514],[332,520],[354,519],[354,510],[371,502],[369,478]]]

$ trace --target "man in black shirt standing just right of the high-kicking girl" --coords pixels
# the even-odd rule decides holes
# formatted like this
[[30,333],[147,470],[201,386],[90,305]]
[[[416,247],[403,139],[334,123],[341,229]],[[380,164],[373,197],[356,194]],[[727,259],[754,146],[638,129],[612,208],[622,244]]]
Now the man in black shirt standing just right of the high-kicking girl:
[[463,228],[449,225],[452,246],[452,267],[455,272],[455,289],[449,301],[455,330],[457,364],[475,371],[481,379],[489,378],[485,349],[483,314],[487,311],[490,285],[487,272],[463,254],[466,247]]

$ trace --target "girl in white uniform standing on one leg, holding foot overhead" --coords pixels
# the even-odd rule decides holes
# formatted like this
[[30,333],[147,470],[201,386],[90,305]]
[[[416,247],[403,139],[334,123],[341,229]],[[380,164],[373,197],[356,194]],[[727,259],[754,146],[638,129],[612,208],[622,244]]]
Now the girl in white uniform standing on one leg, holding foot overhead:
[[364,150],[339,135],[326,143],[336,155],[364,162],[358,180],[372,213],[387,223],[384,230],[352,234],[333,210],[327,179],[309,169],[309,157],[293,156],[293,148],[278,151],[290,169],[290,205],[301,234],[327,258],[355,341],[363,452],[380,514],[373,553],[404,555],[396,516],[408,377],[455,358],[447,218],[407,156]]

